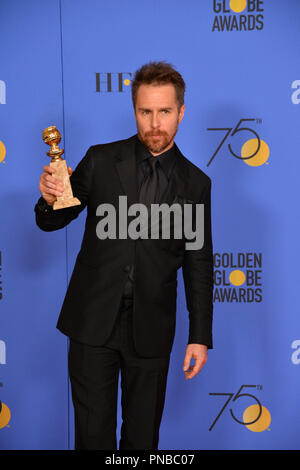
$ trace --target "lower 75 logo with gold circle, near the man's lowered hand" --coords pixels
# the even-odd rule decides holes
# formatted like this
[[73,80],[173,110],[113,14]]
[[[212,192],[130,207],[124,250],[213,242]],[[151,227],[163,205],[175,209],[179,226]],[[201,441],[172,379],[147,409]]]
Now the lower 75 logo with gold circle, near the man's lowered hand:
[[241,397],[248,397],[251,400],[252,405],[248,406],[244,410],[243,420],[238,419],[235,416],[233,409],[230,408],[229,412],[230,412],[231,417],[234,419],[234,421],[236,423],[246,426],[248,429],[250,429],[250,431],[254,431],[254,432],[265,431],[267,428],[269,428],[271,424],[270,412],[267,410],[267,408],[262,406],[259,399],[255,395],[251,393],[241,393],[244,388],[257,388],[259,390],[262,389],[262,387],[259,385],[257,387],[256,385],[242,385],[236,394],[234,393],[209,393],[209,395],[212,395],[212,396],[228,397],[225,404],[223,405],[223,407],[217,414],[216,418],[214,419],[213,423],[211,424],[209,431],[212,431],[218,419],[221,417],[222,413],[225,411],[226,407],[229,405],[230,401],[232,403],[237,402],[237,400],[239,400],[239,398]]

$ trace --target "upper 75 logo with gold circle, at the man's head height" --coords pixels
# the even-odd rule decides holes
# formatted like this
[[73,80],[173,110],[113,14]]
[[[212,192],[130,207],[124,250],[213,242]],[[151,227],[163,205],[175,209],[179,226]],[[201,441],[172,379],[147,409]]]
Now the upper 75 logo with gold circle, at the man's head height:
[[[260,166],[263,163],[265,163],[270,154],[270,150],[268,145],[266,144],[265,141],[263,141],[258,133],[252,129],[251,127],[246,127],[242,126],[243,122],[256,122],[256,123],[261,123],[261,119],[240,119],[237,125],[233,127],[208,127],[208,131],[225,131],[225,135],[223,139],[221,140],[220,144],[218,145],[217,149],[213,153],[212,157],[210,158],[209,162],[207,163],[206,166],[209,166],[214,158],[216,157],[217,153],[221,149],[221,147],[224,145],[225,141],[229,138],[229,143],[227,144],[228,150],[231,153],[231,155],[239,160],[243,160],[245,163],[247,163],[249,166]],[[242,146],[241,153],[238,155],[236,152],[234,152],[232,146],[231,146],[231,137],[236,136],[238,133],[239,137],[242,136],[241,133],[247,132],[247,135],[249,137],[249,133],[252,134],[252,138],[248,138]]]

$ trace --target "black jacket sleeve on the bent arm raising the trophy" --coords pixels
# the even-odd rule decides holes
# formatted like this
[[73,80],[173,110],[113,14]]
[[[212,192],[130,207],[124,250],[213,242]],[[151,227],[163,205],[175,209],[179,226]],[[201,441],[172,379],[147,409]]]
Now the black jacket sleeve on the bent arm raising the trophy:
[[73,195],[80,200],[80,205],[53,210],[43,197],[39,198],[34,211],[36,224],[41,230],[51,232],[65,227],[86,207],[93,177],[92,154],[92,147],[90,147],[70,176]]

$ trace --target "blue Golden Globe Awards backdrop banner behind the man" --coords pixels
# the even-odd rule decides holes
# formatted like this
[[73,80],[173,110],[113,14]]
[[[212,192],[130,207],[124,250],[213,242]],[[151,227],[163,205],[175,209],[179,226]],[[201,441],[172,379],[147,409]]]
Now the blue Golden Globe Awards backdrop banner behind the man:
[[86,210],[36,226],[42,131],[72,168],[135,134],[131,80],[152,60],[186,81],[176,143],[212,180],[214,246],[214,349],[191,381],[178,272],[159,448],[300,449],[299,17],[299,0],[0,1],[0,449],[74,446],[56,321]]

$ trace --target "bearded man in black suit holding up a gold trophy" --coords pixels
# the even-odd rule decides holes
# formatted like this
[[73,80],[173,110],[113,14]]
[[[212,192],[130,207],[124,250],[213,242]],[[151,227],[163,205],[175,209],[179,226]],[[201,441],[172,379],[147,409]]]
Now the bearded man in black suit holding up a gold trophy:
[[[69,168],[73,194],[81,205],[53,210],[62,182],[50,166],[40,178],[42,197],[35,213],[42,230],[65,227],[87,207],[83,241],[57,324],[70,338],[76,449],[117,448],[119,371],[119,449],[157,449],[180,267],[189,312],[186,379],[199,373],[212,348],[211,180],[174,143],[185,110],[184,92],[185,83],[170,64],[152,62],[136,72],[132,99],[137,135],[94,145],[74,172]],[[105,237],[108,206],[116,209],[119,226],[127,216],[126,223],[133,221],[133,211],[125,214],[120,196],[123,202],[126,196],[131,209],[138,203],[146,208],[157,203],[170,208],[204,204],[203,245],[187,249],[186,237],[174,234],[146,238],[117,231]]]

